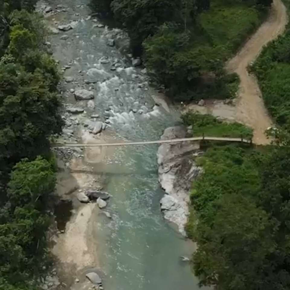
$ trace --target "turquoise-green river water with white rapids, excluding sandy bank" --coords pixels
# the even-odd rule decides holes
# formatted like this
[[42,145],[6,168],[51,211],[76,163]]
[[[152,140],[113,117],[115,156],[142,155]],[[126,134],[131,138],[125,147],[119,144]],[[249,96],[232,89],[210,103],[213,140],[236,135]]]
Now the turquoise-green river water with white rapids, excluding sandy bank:
[[[146,72],[131,67],[128,57],[108,46],[108,38],[119,38],[120,43],[123,34],[94,27],[96,23],[88,18],[88,0],[50,1],[53,8],[58,4],[67,11],[47,18],[49,24],[57,27],[55,21],[75,21],[72,30],[52,35],[51,43],[60,66],[70,66],[64,76],[74,78],[63,85],[64,101],[86,110],[78,117],[80,135],[91,114],[99,114],[102,121],[109,117],[105,135],[118,140],[158,139],[166,127],[180,122],[173,108],[168,113],[155,105],[152,95],[156,92],[149,87]],[[64,34],[68,39],[61,40]],[[108,63],[101,61],[104,56]],[[85,84],[85,79],[98,82]],[[75,103],[69,90],[76,87],[94,91],[95,108],[86,108],[87,102]],[[190,265],[179,259],[190,256],[194,245],[166,223],[160,212],[163,191],[158,184],[156,150],[155,145],[116,148],[99,163],[89,160],[95,174],[105,175],[104,189],[112,195],[107,208],[112,219],[97,212],[91,217],[105,289],[198,289]]]

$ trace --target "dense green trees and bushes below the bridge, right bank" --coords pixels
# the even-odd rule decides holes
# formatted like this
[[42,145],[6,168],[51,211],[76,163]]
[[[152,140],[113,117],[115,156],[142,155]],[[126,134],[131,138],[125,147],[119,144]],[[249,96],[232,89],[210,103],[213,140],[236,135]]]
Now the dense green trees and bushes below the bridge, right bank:
[[187,231],[198,243],[200,284],[288,289],[289,147],[214,147],[197,163],[204,173],[193,184]]

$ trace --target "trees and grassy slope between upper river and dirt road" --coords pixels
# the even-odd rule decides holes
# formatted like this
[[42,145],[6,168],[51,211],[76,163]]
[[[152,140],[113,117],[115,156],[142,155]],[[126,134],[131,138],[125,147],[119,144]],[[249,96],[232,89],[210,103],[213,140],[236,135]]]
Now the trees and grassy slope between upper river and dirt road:
[[272,0],[91,0],[129,34],[157,85],[172,99],[234,97],[225,61],[259,26]]

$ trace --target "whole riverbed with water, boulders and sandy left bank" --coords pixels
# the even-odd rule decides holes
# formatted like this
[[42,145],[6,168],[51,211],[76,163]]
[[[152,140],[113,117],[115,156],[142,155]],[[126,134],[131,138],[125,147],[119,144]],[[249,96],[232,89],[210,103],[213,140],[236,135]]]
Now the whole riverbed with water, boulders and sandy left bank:
[[[150,87],[141,60],[128,51],[127,34],[92,16],[88,3],[49,0],[37,5],[51,31],[47,51],[63,72],[59,88],[65,126],[63,134],[55,136],[57,142],[158,139],[165,127],[180,121],[178,110]],[[164,191],[156,175],[156,150],[55,149],[60,206],[58,230],[50,242],[58,287],[198,288],[189,264],[180,262],[194,245],[181,239],[160,211]],[[102,285],[94,285],[86,276],[89,272],[97,274]],[[48,283],[42,286],[56,288]]]

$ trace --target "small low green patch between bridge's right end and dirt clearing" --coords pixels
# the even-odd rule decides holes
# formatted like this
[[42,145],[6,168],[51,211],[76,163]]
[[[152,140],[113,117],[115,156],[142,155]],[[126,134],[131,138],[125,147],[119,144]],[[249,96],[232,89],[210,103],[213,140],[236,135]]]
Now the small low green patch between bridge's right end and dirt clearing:
[[182,121],[186,126],[192,125],[193,136],[232,137],[252,139],[253,130],[243,124],[227,123],[218,120],[212,115],[202,115],[197,112],[187,112],[182,115]]

